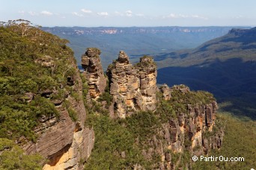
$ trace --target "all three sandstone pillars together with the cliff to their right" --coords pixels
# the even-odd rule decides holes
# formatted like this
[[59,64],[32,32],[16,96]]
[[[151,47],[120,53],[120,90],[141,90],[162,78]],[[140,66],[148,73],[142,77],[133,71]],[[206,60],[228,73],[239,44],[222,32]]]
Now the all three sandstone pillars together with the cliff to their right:
[[[100,84],[99,78],[103,74],[99,73],[102,72],[99,66],[100,60],[96,61],[94,57],[88,56],[99,54],[97,50],[94,52],[88,50],[82,57],[82,65],[89,75],[91,96],[100,95],[97,84]],[[161,100],[166,101],[165,104],[176,107],[172,109],[175,110],[173,116],[171,113],[166,113],[170,110],[164,110],[164,114],[168,116],[164,122],[161,122],[156,134],[143,144],[146,147],[142,150],[142,154],[146,160],[153,160],[156,155],[161,157],[157,168],[177,169],[180,161],[184,159],[183,155],[189,153],[199,156],[221,147],[224,133],[222,129],[213,132],[218,106],[210,93],[192,92],[185,85],[169,88],[164,84],[158,89],[156,63],[153,59],[147,56],[141,57],[140,62],[133,66],[124,51],[120,51],[118,59],[109,65],[106,73],[109,78],[109,94],[113,98],[112,109],[109,110],[113,110],[115,116],[119,118],[126,118],[136,111],[158,110],[157,102],[162,101],[156,98],[157,92],[162,92]],[[158,113],[156,115],[159,116]],[[140,139],[136,140],[139,142]],[[125,153],[122,152],[121,156],[124,158]],[[137,166],[140,165],[135,167]],[[186,160],[186,165],[183,166],[190,169],[190,160]]]

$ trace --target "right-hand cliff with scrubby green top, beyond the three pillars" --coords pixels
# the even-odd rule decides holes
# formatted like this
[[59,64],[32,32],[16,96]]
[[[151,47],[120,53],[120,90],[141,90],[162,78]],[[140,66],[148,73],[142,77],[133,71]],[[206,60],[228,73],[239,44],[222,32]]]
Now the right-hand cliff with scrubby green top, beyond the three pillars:
[[[164,139],[161,145],[152,146],[162,155],[162,169],[177,168],[181,158],[187,159],[183,166],[189,169],[192,156],[201,156],[221,148],[224,131],[222,127],[215,127],[218,105],[210,93],[191,92],[184,85],[169,88],[164,84],[160,90],[162,98],[171,105],[177,102],[183,104],[183,108],[177,108],[176,116],[159,128],[159,134]],[[165,148],[171,152],[166,152]],[[182,154],[188,155],[184,157]],[[171,157],[179,159],[173,161]]]

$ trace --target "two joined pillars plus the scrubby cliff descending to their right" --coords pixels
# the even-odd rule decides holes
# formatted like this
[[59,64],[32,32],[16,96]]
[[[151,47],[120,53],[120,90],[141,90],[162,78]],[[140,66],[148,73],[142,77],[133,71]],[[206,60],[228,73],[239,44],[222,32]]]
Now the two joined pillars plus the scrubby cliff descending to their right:
[[[121,125],[134,134],[144,159],[152,163],[150,169],[191,169],[193,155],[221,148],[224,132],[215,125],[218,105],[209,92],[193,92],[185,85],[158,88],[153,59],[144,56],[132,65],[124,51],[109,65],[106,75],[109,91],[105,92],[112,96],[115,118],[122,118]],[[129,153],[119,154],[125,159]],[[138,167],[143,165],[132,166]]]

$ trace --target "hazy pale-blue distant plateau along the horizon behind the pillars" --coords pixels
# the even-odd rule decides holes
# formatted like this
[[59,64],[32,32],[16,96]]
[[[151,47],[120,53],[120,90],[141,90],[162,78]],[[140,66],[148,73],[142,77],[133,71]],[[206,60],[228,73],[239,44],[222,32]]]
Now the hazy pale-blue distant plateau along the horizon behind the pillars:
[[147,55],[156,55],[195,48],[203,42],[227,34],[232,27],[54,27],[42,28],[44,31],[70,40],[76,60],[85,48],[95,47],[102,51],[103,69],[112,63],[120,50],[131,57],[132,62]]

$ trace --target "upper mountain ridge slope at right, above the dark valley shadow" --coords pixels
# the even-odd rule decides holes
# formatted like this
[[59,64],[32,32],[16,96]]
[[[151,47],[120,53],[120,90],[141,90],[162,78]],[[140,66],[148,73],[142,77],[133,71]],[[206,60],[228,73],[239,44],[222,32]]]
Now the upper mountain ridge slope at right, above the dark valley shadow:
[[243,60],[256,58],[256,28],[233,28],[225,36],[216,38],[190,50],[181,50],[154,57],[159,67],[193,66],[210,63],[213,60],[227,60],[242,57]]

